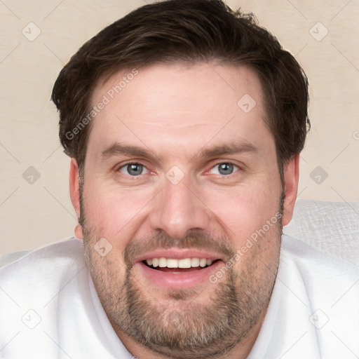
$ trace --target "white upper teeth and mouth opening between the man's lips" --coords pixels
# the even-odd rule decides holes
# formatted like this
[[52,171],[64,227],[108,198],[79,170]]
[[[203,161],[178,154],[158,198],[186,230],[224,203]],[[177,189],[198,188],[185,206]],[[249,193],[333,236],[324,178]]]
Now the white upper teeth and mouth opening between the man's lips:
[[201,271],[212,264],[218,262],[219,259],[211,260],[206,258],[184,258],[184,259],[173,259],[173,258],[151,258],[145,259],[142,263],[156,271],[163,271],[169,273],[186,273],[191,271]]

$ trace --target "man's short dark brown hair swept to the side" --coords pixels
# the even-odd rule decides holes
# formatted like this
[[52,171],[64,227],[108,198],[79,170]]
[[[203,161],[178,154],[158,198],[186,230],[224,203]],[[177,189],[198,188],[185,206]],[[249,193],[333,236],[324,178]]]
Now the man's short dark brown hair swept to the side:
[[93,90],[104,76],[161,62],[212,60],[248,65],[261,79],[266,122],[283,179],[283,164],[302,151],[309,126],[306,75],[252,14],[232,11],[222,0],[167,0],[142,6],[86,42],[60,72],[51,96],[60,111],[65,153],[82,168],[91,123],[76,135],[73,130],[89,113]]

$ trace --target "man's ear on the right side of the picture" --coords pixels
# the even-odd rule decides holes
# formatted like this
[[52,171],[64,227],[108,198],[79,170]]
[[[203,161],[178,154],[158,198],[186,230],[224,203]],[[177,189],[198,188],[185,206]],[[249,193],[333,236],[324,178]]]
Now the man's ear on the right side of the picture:
[[282,224],[286,226],[293,217],[294,204],[297,199],[299,181],[299,154],[290,158],[284,166],[285,198],[283,203]]

